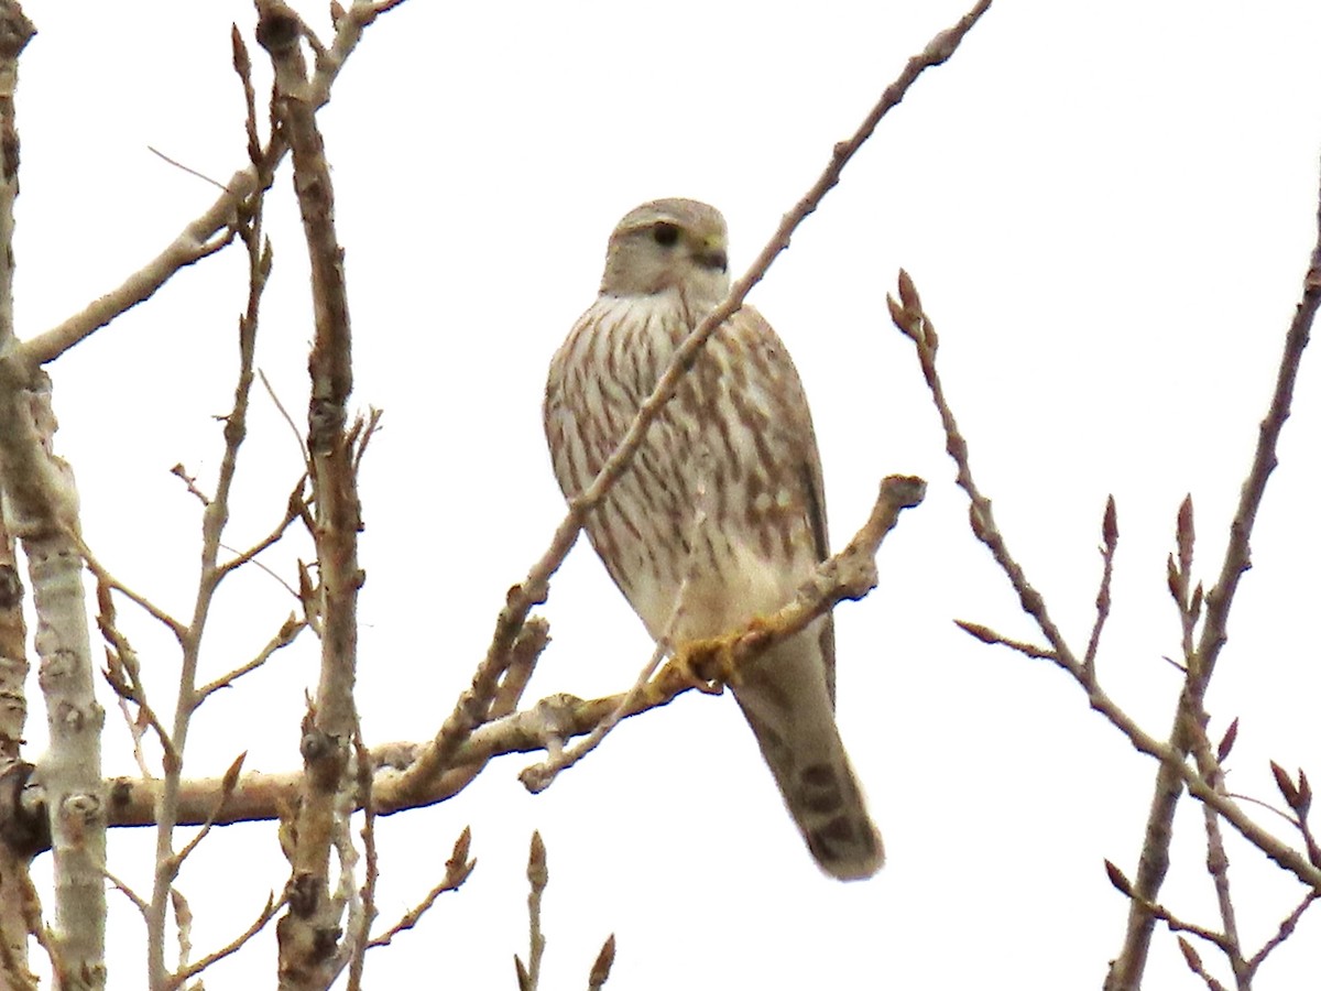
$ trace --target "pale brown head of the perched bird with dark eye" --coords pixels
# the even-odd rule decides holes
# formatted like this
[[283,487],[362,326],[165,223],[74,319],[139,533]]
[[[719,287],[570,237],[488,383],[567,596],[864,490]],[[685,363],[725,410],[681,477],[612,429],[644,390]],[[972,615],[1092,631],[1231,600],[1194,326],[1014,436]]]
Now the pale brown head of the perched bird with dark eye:
[[651,296],[670,288],[715,305],[729,292],[725,218],[695,200],[653,200],[610,235],[601,293]]

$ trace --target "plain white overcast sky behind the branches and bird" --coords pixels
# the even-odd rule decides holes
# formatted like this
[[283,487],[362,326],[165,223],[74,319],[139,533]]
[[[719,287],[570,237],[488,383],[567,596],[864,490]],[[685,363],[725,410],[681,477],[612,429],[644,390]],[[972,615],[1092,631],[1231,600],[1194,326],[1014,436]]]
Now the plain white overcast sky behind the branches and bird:
[[[326,29],[321,5],[300,7]],[[214,200],[148,145],[222,182],[244,164],[229,25],[251,42],[254,21],[250,4],[219,0],[26,9],[40,34],[18,89],[24,337],[116,285]],[[411,0],[369,30],[321,115],[347,252],[354,403],[386,411],[363,480],[369,743],[435,732],[505,589],[561,515],[540,428],[544,371],[594,296],[618,217],[659,196],[707,200],[729,221],[741,272],[832,144],[963,9]],[[930,482],[882,548],[877,592],[838,614],[839,717],[885,834],[878,877],[822,876],[733,703],[684,696],[629,720],[543,795],[517,781],[528,760],[510,757],[454,801],[382,821],[382,922],[439,880],[469,823],[478,865],[371,954],[367,986],[412,975],[411,986],[513,987],[539,828],[546,988],[585,987],[612,932],[618,988],[1098,987],[1127,909],[1102,860],[1132,873],[1156,768],[1049,663],[952,625],[1032,636],[968,531],[884,295],[901,266],[915,277],[974,469],[1079,650],[1115,494],[1122,540],[1099,671],[1164,735],[1178,687],[1161,661],[1178,651],[1165,592],[1174,513],[1192,492],[1210,584],[1314,238],[1318,42],[1321,8],[1305,3],[1001,0],[882,123],[753,292],[812,398],[836,544],[881,476]],[[255,44],[252,55],[264,85]],[[312,322],[288,165],[268,218],[276,268],[259,362],[301,423]],[[184,461],[203,488],[214,478],[244,264],[231,250],[181,274],[52,367],[89,542],[181,616],[199,521],[169,468]],[[1304,361],[1210,695],[1213,737],[1242,719],[1231,788],[1268,801],[1269,758],[1321,773],[1317,361]],[[244,451],[232,544],[268,530],[299,473],[262,391]],[[306,556],[306,543],[269,564],[291,576],[295,552]],[[240,576],[205,677],[244,661],[291,608],[268,576]],[[646,659],[642,625],[585,543],[544,614],[555,640],[528,700],[622,690]],[[170,643],[127,604],[122,616],[169,711]],[[209,703],[189,772],[219,773],[240,751],[248,768],[296,766],[314,682],[308,640]],[[103,698],[107,769],[132,773]],[[40,753],[36,704],[29,736]],[[1214,926],[1197,807],[1176,826],[1166,904]],[[111,868],[140,891],[151,844],[148,831],[112,836]],[[1300,885],[1232,835],[1230,856],[1255,949]],[[207,840],[181,877],[198,953],[232,938],[284,877],[269,826]],[[143,930],[111,900],[111,984],[137,987]],[[1258,987],[1314,979],[1318,936],[1313,912]],[[207,986],[269,986],[272,971],[273,937]],[[1199,987],[1165,932],[1148,986]]]

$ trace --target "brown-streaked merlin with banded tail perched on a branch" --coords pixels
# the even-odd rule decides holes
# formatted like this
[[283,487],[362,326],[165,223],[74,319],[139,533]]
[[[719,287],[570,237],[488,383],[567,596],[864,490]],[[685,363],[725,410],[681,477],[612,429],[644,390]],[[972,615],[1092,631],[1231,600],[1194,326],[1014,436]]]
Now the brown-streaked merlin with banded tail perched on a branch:
[[[551,361],[546,439],[587,489],[683,338],[729,292],[725,221],[657,200],[610,235],[601,292]],[[798,371],[752,307],[707,341],[587,534],[651,637],[674,650],[786,605],[828,555],[820,457]],[[822,869],[885,859],[835,724],[835,629],[816,620],[737,671],[734,699]]]

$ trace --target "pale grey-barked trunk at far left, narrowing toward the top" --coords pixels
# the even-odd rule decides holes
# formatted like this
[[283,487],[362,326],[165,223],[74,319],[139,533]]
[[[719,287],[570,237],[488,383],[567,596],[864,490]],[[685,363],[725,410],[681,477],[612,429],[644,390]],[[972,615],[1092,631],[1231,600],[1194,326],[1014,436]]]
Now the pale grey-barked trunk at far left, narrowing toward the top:
[[[15,0],[0,4],[0,485],[12,536],[22,542],[37,613],[37,653],[50,747],[48,794],[58,932],[49,945],[66,988],[106,983],[106,793],[91,638],[82,597],[78,494],[54,455],[50,381],[13,333],[13,230],[18,194],[15,87],[18,54],[36,33]],[[21,698],[21,696],[20,696]],[[12,888],[11,888],[11,892]],[[8,918],[5,921],[9,921]],[[8,936],[8,933],[5,933]]]

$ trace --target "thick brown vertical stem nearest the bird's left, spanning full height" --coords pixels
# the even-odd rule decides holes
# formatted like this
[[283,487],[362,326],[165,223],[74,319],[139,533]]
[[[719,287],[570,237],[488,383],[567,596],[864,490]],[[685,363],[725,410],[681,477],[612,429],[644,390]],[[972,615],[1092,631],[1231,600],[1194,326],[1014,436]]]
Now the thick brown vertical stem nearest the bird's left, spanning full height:
[[[358,654],[358,531],[362,510],[354,473],[354,439],[370,429],[347,431],[347,402],[353,390],[349,300],[343,251],[336,234],[334,185],[325,144],[317,126],[317,78],[308,74],[301,45],[318,65],[326,50],[283,0],[258,0],[256,37],[275,69],[275,107],[280,131],[293,156],[293,186],[312,268],[316,338],[309,361],[312,395],[308,408],[308,453],[320,577],[321,675],[316,703],[304,720],[304,788],[299,802],[291,863],[291,899],[276,934],[280,976],[288,988],[320,988],[338,966],[328,945],[338,943],[343,902],[329,887],[329,858],[343,834],[342,797],[354,790],[350,772],[353,737],[358,727],[354,703]],[[351,836],[341,847],[341,864],[353,850]],[[351,887],[347,895],[353,896]],[[357,970],[355,970],[357,975]]]

